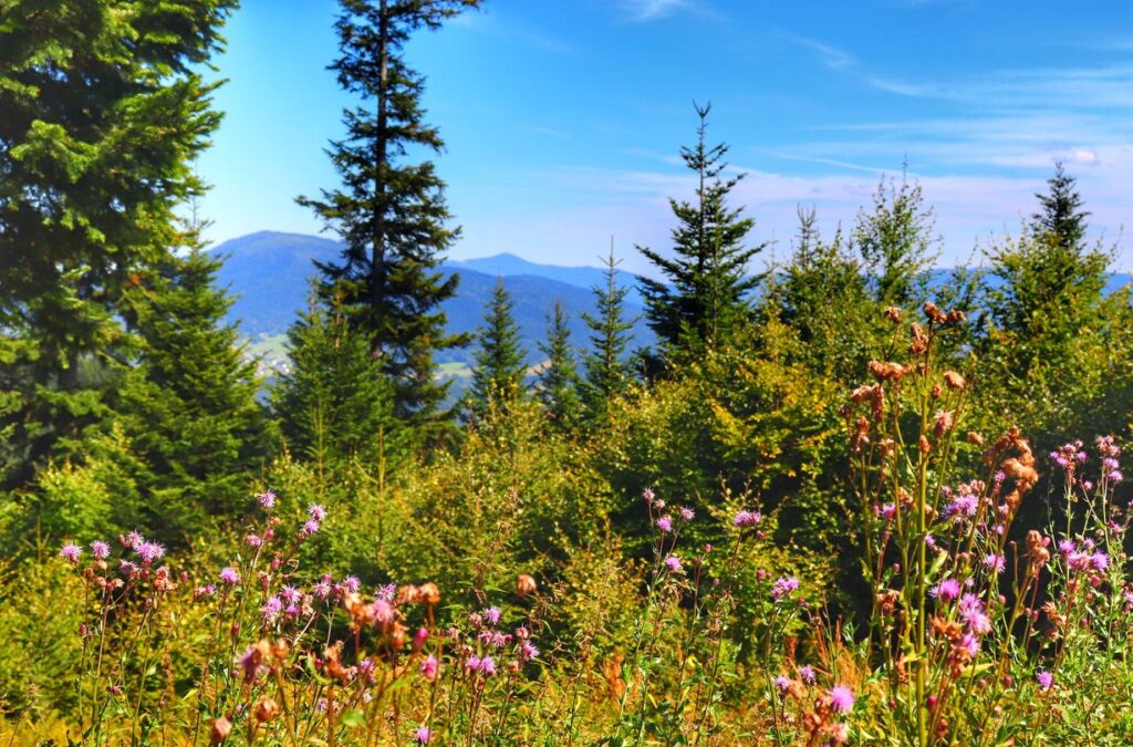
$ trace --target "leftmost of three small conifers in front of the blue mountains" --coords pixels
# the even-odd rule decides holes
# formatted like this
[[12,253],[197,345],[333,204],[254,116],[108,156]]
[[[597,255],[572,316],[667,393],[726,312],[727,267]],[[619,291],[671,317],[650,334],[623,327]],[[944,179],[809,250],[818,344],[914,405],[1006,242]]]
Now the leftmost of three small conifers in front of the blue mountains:
[[512,315],[514,304],[503,285],[496,280],[479,333],[480,349],[472,367],[472,387],[469,391],[470,409],[483,414],[489,402],[506,406],[520,393],[523,374],[523,350],[519,328]]

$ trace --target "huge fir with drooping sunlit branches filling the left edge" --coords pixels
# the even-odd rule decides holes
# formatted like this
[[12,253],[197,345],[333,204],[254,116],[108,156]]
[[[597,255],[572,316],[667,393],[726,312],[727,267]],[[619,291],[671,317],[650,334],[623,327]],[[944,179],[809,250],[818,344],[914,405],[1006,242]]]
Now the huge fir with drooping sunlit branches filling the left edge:
[[107,415],[122,295],[177,245],[220,121],[202,70],[237,0],[5,3],[0,23],[0,486]]

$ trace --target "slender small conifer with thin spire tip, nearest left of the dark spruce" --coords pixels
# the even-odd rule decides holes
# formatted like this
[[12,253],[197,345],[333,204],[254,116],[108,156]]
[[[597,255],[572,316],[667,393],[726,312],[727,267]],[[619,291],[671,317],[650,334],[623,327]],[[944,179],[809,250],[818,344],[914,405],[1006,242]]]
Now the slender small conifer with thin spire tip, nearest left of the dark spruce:
[[617,282],[621,261],[614,256],[613,239],[610,240],[610,255],[604,264],[605,285],[591,288],[595,313],[582,314],[582,321],[590,330],[590,349],[582,356],[586,367],[582,394],[593,416],[604,416],[610,400],[625,392],[633,382],[633,364],[627,353],[633,339],[636,320],[625,316],[629,289]]

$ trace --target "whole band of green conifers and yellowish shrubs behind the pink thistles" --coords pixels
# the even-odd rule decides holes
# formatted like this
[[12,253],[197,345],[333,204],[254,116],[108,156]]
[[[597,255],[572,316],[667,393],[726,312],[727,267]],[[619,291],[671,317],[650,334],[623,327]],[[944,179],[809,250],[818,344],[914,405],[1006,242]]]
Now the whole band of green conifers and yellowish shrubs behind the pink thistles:
[[[655,269],[653,349],[629,349],[613,252],[589,339],[556,307],[538,371],[502,281],[478,338],[449,334],[440,305],[459,279],[438,264],[459,230],[433,164],[411,158],[443,142],[404,44],[476,0],[341,1],[332,67],[359,105],[331,147],[341,185],[299,201],[346,249],[318,266],[292,371],[262,405],[221,322],[220,260],[182,218],[220,122],[198,70],[235,6],[70,0],[0,26],[0,530],[16,555],[119,526],[207,546],[271,487],[333,504],[333,530],[304,552],[366,580],[467,585],[522,566],[581,589],[632,557],[651,486],[698,515],[758,504],[783,552],[768,562],[829,580],[860,508],[842,406],[909,343],[891,320],[922,308],[966,315],[932,353],[972,384],[966,427],[1017,424],[1039,452],[1127,432],[1128,294],[1105,294],[1113,251],[1088,240],[1060,167],[981,270],[932,280],[932,210],[902,175],[833,236],[800,210],[790,257],[760,274],[766,247],[731,200],[742,177],[707,107],[681,152],[698,187],[672,202],[671,245],[637,249]],[[463,345],[472,387],[446,407],[435,357]]]

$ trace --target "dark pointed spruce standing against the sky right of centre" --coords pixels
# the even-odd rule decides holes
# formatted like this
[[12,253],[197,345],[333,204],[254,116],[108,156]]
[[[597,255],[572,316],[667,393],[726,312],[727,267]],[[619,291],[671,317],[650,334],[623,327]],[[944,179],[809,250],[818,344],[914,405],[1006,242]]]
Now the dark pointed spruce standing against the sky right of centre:
[[764,245],[747,246],[755,226],[730,209],[727,198],[743,175],[724,177],[727,145],[708,146],[712,105],[697,107],[697,144],[681,148],[684,164],[697,175],[696,201],[670,200],[678,226],[672,231],[673,257],[638,247],[664,281],[642,278],[646,317],[671,353],[696,354],[731,341],[752,319],[751,291],[760,275],[749,264]]

